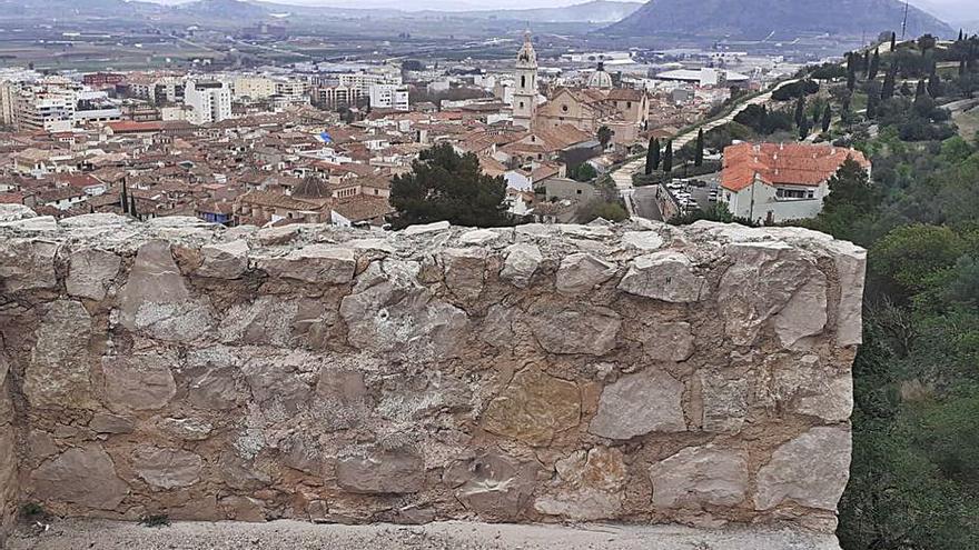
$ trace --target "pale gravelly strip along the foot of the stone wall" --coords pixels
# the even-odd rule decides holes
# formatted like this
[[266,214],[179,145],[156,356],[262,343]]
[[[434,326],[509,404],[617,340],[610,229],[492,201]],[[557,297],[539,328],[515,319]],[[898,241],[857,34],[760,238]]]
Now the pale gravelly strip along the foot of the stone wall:
[[46,532],[23,527],[9,550],[839,550],[833,536],[792,530],[684,527],[337,526],[175,522],[149,528],[102,520],[58,521]]

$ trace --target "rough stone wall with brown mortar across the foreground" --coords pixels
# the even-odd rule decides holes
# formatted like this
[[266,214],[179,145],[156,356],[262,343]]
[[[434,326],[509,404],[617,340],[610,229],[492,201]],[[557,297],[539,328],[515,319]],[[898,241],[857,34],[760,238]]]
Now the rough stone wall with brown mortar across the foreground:
[[711,223],[7,221],[21,499],[830,531],[863,266],[820,233]]

